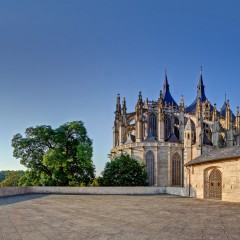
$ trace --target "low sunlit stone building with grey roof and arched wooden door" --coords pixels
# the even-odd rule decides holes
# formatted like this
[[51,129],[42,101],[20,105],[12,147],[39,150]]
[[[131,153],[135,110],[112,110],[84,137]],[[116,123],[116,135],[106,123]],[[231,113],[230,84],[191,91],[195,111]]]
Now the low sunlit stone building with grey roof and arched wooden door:
[[240,202],[240,146],[213,150],[186,167],[190,196]]

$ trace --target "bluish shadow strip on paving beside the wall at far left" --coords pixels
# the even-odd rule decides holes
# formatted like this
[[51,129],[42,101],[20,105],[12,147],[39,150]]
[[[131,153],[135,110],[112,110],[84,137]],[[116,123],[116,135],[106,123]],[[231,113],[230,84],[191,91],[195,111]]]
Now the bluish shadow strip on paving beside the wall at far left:
[[46,197],[49,194],[29,194],[29,195],[16,195],[0,198],[0,206],[29,201],[37,198]]

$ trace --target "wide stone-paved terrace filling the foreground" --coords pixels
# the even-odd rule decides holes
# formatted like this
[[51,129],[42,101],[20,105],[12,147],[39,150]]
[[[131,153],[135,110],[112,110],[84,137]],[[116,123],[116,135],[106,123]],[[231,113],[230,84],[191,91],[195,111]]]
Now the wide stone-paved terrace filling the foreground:
[[0,199],[0,239],[240,239],[240,203],[169,195]]

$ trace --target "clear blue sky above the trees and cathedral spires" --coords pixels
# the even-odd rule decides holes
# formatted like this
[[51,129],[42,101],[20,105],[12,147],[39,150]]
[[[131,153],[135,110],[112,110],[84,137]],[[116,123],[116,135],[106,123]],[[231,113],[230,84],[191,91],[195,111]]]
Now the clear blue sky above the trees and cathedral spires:
[[240,2],[0,1],[0,169],[22,169],[11,139],[30,126],[82,120],[100,173],[112,147],[117,93],[134,110],[156,100],[164,68],[190,105],[203,66],[206,95],[240,105]]

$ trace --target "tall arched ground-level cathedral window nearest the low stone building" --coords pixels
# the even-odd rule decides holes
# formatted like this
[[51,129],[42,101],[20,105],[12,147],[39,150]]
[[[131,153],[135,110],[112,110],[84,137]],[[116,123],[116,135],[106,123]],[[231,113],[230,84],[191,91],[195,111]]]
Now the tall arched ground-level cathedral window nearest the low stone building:
[[175,153],[172,157],[172,186],[182,185],[182,164],[181,156]]

